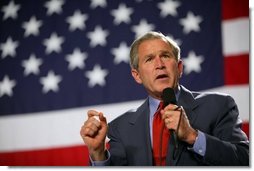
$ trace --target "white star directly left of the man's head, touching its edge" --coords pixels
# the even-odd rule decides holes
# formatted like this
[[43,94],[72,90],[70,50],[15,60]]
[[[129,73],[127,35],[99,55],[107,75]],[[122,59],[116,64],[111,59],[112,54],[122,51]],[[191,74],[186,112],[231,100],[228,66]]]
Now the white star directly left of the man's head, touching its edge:
[[125,42],[121,42],[118,48],[113,48],[111,53],[115,56],[114,63],[119,64],[121,62],[129,63],[129,47]]

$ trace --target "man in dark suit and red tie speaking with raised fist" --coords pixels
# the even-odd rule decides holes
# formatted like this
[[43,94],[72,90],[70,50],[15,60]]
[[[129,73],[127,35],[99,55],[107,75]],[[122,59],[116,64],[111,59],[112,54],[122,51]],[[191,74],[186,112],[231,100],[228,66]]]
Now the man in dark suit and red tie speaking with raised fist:
[[[148,98],[109,125],[101,112],[88,111],[80,134],[92,165],[249,165],[249,141],[234,100],[180,85],[183,62],[175,42],[148,32],[133,42],[130,63],[133,78]],[[168,87],[174,89],[178,105],[158,107]],[[158,117],[161,121],[155,121]],[[157,131],[160,122],[163,127]]]

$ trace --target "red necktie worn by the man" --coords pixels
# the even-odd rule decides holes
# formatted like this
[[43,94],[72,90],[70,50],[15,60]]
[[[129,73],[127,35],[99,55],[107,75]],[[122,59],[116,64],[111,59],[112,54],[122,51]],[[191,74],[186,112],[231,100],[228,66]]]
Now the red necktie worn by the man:
[[153,161],[155,166],[165,166],[168,150],[169,131],[161,118],[163,102],[160,102],[153,119]]

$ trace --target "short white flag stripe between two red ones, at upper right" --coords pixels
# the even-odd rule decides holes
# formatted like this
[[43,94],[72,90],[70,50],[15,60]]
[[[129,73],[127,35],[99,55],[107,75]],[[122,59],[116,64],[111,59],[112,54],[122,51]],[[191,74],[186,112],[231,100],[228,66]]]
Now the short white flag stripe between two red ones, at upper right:
[[[240,30],[240,31],[239,31]],[[223,55],[249,53],[249,18],[225,20],[222,23]]]

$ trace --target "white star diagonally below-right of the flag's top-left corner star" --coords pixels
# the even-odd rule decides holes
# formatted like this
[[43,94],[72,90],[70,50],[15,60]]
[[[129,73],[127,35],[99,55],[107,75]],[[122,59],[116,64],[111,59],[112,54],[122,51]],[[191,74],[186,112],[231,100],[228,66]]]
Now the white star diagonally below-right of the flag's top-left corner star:
[[42,25],[42,21],[36,20],[34,16],[29,21],[24,22],[22,27],[25,29],[25,37],[29,35],[37,36],[39,34],[39,27]]

